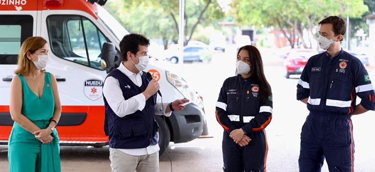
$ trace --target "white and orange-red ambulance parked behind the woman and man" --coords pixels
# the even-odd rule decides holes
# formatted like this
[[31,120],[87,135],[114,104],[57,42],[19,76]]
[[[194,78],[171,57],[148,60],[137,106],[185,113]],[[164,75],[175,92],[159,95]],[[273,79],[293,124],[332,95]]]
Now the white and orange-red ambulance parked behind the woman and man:
[[[22,42],[42,36],[49,43],[47,71],[56,77],[62,103],[57,127],[61,145],[108,145],[104,134],[102,86],[108,72],[121,63],[119,43],[128,32],[104,8],[106,0],[0,0],[0,144],[7,144],[13,125],[9,113],[10,84]],[[102,58],[103,57],[103,58]],[[159,124],[160,154],[169,141],[199,137],[204,125],[202,99],[180,76],[150,61],[163,102],[189,99]]]

